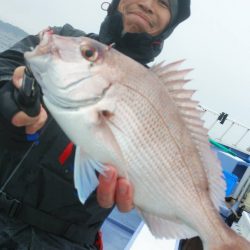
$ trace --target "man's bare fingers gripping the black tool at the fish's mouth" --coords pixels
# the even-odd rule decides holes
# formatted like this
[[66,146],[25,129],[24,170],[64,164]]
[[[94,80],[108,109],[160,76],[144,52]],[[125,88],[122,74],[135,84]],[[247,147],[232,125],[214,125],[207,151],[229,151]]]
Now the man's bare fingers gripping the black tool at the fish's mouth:
[[[14,71],[12,81],[16,88],[21,87],[24,69],[24,66],[20,66]],[[41,110],[38,116],[30,117],[23,111],[20,111],[13,116],[11,123],[16,127],[25,127],[25,131],[27,134],[33,134],[43,127],[47,118],[47,112],[41,106]]]

